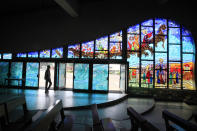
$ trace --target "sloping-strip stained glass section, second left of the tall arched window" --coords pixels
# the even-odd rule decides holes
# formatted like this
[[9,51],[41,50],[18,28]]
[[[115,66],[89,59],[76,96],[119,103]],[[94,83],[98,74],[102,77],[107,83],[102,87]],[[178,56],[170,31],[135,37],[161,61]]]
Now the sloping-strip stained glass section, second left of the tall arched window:
[[95,58],[107,59],[108,58],[108,37],[101,37],[96,40]]

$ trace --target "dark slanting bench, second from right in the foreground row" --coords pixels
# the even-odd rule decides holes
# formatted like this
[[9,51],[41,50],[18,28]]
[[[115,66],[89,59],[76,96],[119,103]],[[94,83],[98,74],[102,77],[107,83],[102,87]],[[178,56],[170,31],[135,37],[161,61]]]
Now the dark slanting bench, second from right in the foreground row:
[[131,121],[131,131],[138,131],[139,128],[141,128],[141,131],[159,131],[157,127],[148,122],[132,107],[127,108],[127,114],[129,115]]

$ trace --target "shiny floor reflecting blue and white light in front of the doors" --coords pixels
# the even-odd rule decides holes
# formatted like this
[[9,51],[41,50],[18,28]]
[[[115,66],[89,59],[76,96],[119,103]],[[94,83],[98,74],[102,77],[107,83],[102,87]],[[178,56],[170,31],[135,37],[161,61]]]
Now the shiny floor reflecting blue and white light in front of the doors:
[[49,93],[45,93],[44,90],[17,90],[17,89],[1,89],[1,97],[9,95],[25,95],[27,101],[27,107],[30,110],[47,109],[50,105],[55,103],[56,100],[61,99],[63,107],[68,108],[80,108],[82,106],[88,106],[91,104],[109,103],[122,97],[126,97],[126,94],[120,93],[79,93],[73,91],[54,91],[49,90]]

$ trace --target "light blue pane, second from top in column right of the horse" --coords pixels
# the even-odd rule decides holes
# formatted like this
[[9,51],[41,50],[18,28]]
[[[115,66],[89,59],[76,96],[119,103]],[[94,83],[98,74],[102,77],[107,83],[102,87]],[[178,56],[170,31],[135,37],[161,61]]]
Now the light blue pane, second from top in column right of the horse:
[[180,28],[169,28],[169,43],[180,43]]

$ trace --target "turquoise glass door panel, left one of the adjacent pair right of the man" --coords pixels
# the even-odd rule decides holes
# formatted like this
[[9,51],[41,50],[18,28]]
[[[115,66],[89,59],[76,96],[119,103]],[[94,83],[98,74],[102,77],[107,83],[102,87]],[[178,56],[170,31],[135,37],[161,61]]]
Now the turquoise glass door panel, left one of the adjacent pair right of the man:
[[74,89],[88,90],[89,64],[75,64]]

